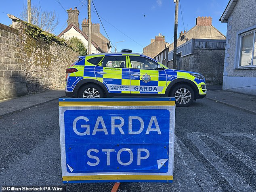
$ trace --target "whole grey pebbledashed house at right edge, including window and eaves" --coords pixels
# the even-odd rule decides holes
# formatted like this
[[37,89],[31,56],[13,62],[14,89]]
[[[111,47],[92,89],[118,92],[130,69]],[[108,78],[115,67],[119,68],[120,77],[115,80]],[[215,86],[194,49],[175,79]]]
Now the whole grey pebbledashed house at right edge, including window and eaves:
[[229,0],[221,23],[227,23],[223,90],[256,95],[256,4]]

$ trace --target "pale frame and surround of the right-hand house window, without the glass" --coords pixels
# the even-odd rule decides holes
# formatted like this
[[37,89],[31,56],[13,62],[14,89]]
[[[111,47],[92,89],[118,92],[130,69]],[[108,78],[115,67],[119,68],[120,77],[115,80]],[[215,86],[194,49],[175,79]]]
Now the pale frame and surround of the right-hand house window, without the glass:
[[[242,50],[242,37],[246,35],[250,35],[253,33],[253,45],[252,45],[252,62],[251,65],[244,65],[241,66],[241,50]],[[247,29],[243,29],[242,31],[237,32],[237,46],[236,46],[236,51],[235,51],[235,58],[236,58],[236,65],[234,66],[235,69],[251,69],[251,68],[256,68],[256,64],[253,62],[253,55],[254,55],[254,49],[256,49],[256,25],[249,27]]]

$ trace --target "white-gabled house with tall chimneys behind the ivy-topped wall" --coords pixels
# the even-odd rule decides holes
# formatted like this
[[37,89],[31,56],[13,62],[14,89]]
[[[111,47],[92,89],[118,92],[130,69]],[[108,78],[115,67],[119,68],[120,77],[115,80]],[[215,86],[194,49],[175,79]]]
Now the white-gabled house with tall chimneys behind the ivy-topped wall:
[[[88,46],[88,33],[85,33],[85,31],[82,31],[80,29],[80,25],[78,22],[78,15],[79,10],[75,7],[74,10],[70,8],[67,10],[68,13],[68,20],[67,20],[67,28],[64,29],[58,37],[62,37],[65,39],[69,39],[72,37],[77,37],[78,39],[82,40],[82,42]],[[97,27],[95,27],[97,25]],[[88,26],[88,22],[87,22]],[[84,29],[84,20],[82,21],[82,29]],[[110,52],[111,46],[110,42],[107,38],[105,38],[100,33],[100,25],[99,24],[92,24],[92,53],[104,53],[104,52]]]

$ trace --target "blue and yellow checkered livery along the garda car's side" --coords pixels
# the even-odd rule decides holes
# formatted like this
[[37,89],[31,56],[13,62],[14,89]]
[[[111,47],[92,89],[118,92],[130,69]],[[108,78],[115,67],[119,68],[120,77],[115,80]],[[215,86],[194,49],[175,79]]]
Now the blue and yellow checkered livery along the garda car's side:
[[[126,54],[125,68],[103,67],[101,60],[99,65],[88,62],[94,55],[86,56],[84,60],[74,63],[72,67],[78,69],[77,72],[67,74],[66,91],[73,92],[76,84],[82,79],[94,79],[104,84],[109,93],[116,94],[165,94],[168,85],[177,78],[185,78],[193,81],[197,85],[199,94],[205,94],[201,85],[205,85],[205,80],[197,79],[187,71],[172,69],[146,70],[132,69],[130,58]],[[132,54],[134,56],[134,54]],[[105,55],[97,55],[104,57]],[[141,55],[136,55],[141,56]],[[144,81],[143,76],[148,75],[149,81]]]

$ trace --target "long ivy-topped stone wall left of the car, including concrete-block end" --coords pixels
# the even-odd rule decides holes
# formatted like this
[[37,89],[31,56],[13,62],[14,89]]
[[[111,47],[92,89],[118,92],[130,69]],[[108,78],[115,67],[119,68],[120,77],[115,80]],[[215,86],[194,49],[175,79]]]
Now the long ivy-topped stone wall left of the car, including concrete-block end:
[[0,25],[0,100],[65,87],[65,69],[76,61],[64,40],[12,15]]

